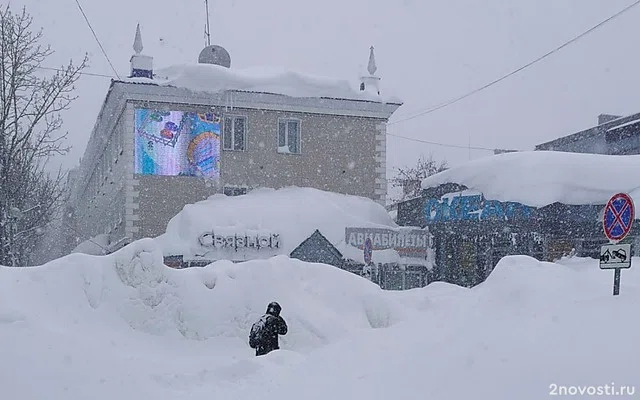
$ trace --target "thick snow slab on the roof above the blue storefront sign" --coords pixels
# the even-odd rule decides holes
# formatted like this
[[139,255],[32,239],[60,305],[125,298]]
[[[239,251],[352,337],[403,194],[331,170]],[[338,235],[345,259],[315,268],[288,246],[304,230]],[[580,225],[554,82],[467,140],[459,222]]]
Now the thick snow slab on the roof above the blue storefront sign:
[[640,199],[637,171],[640,171],[640,155],[516,152],[453,167],[423,180],[422,188],[457,183],[482,192],[487,199],[533,207],[555,202],[606,204],[618,192]]

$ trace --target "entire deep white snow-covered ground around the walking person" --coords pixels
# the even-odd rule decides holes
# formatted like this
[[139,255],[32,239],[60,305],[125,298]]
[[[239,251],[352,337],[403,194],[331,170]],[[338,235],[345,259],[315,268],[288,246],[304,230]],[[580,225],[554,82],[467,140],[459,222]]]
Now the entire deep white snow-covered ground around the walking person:
[[[384,292],[285,256],[173,270],[157,246],[0,268],[2,398],[541,399],[553,384],[640,385],[637,259],[616,297],[595,260],[523,256],[473,289]],[[272,300],[290,332],[256,358],[248,330]]]

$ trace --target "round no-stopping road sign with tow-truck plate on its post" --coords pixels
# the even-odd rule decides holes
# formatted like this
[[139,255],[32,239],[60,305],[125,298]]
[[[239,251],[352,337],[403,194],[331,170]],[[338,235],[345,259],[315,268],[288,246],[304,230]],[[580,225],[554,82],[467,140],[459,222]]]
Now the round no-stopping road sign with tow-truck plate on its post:
[[600,248],[600,269],[613,269],[613,295],[620,294],[620,272],[631,268],[631,244],[618,244],[631,231],[635,218],[633,200],[625,193],[609,199],[602,217],[608,245]]

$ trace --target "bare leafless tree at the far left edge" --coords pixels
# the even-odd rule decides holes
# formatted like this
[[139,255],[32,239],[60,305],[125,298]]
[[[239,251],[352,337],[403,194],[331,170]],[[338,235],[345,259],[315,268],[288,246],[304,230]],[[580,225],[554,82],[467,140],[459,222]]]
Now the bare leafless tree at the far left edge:
[[59,206],[64,174],[46,166],[69,150],[60,113],[87,64],[85,56],[51,72],[42,63],[53,51],[32,25],[26,9],[0,9],[0,265],[26,265]]

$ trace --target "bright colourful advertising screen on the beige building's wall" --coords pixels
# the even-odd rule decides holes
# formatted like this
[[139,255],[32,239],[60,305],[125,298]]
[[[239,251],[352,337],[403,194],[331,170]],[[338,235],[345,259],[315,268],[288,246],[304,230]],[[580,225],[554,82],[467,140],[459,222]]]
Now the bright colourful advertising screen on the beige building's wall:
[[135,173],[220,177],[220,116],[135,110]]

